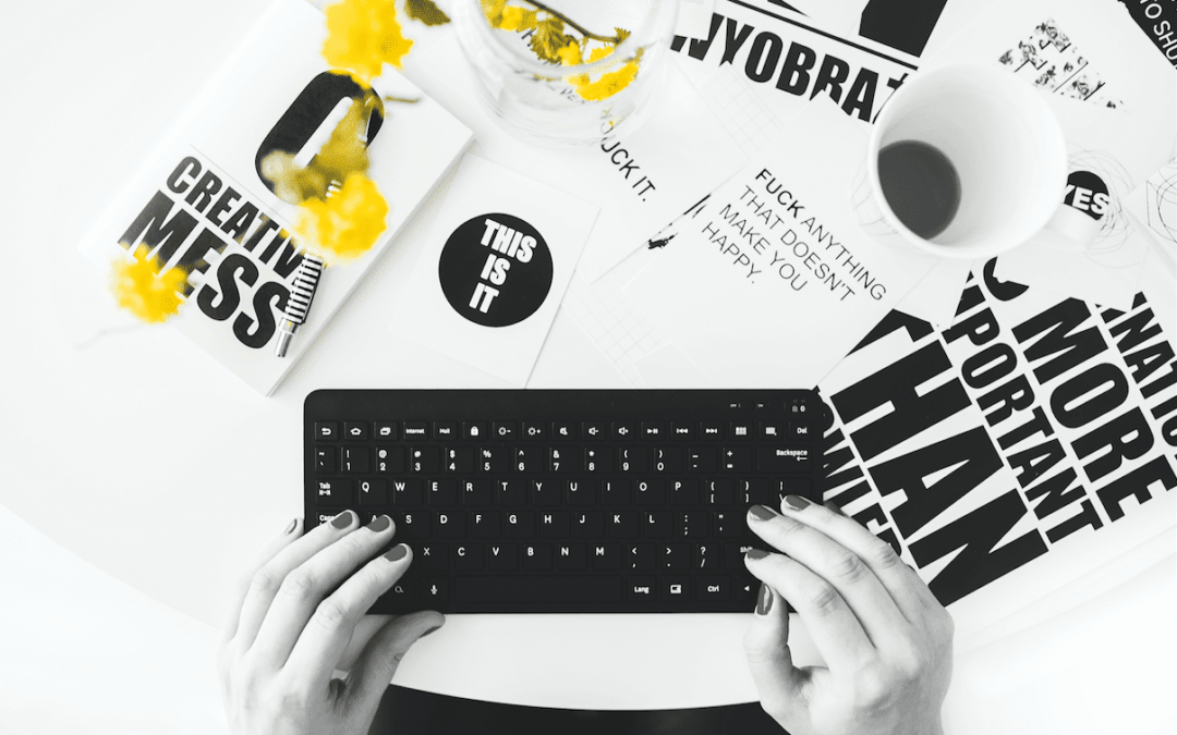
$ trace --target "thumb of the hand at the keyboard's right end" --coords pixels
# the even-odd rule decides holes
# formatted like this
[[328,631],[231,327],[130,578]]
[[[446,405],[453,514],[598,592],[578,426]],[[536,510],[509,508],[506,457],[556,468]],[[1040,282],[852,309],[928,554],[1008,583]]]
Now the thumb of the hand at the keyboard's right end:
[[791,729],[804,708],[807,676],[789,650],[789,606],[764,582],[744,634],[744,655],[764,710]]

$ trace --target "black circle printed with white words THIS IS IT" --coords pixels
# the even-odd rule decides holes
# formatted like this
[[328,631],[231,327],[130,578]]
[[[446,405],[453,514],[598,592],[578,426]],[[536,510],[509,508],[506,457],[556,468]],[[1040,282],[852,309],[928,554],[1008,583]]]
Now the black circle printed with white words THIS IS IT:
[[483,214],[446,240],[438,279],[455,312],[476,325],[508,327],[547,299],[552,254],[527,222],[510,214]]

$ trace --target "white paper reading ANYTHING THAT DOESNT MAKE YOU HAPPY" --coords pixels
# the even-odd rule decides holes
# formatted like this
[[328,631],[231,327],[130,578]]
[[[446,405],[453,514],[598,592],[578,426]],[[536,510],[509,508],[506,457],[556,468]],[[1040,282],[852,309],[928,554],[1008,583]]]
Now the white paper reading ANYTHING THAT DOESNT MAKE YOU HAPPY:
[[855,225],[849,185],[865,146],[814,102],[630,281],[625,293],[713,383],[816,385],[936,265]]

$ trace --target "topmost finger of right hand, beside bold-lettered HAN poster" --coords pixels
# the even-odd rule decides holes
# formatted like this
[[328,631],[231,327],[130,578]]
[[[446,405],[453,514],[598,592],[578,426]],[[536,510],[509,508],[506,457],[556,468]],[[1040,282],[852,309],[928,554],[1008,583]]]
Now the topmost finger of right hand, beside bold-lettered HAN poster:
[[891,544],[844,514],[789,495],[780,503],[782,512],[810,528],[817,529],[858,555],[871,568],[896,606],[913,624],[924,620],[929,607],[942,606],[927,584],[905,564]]

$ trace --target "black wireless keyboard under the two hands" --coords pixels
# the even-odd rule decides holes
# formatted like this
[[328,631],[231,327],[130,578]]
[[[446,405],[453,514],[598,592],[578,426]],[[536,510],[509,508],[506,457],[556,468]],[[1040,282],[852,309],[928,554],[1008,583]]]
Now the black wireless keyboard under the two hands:
[[811,390],[317,390],[306,526],[387,514],[372,613],[747,612],[753,503],[820,501]]

